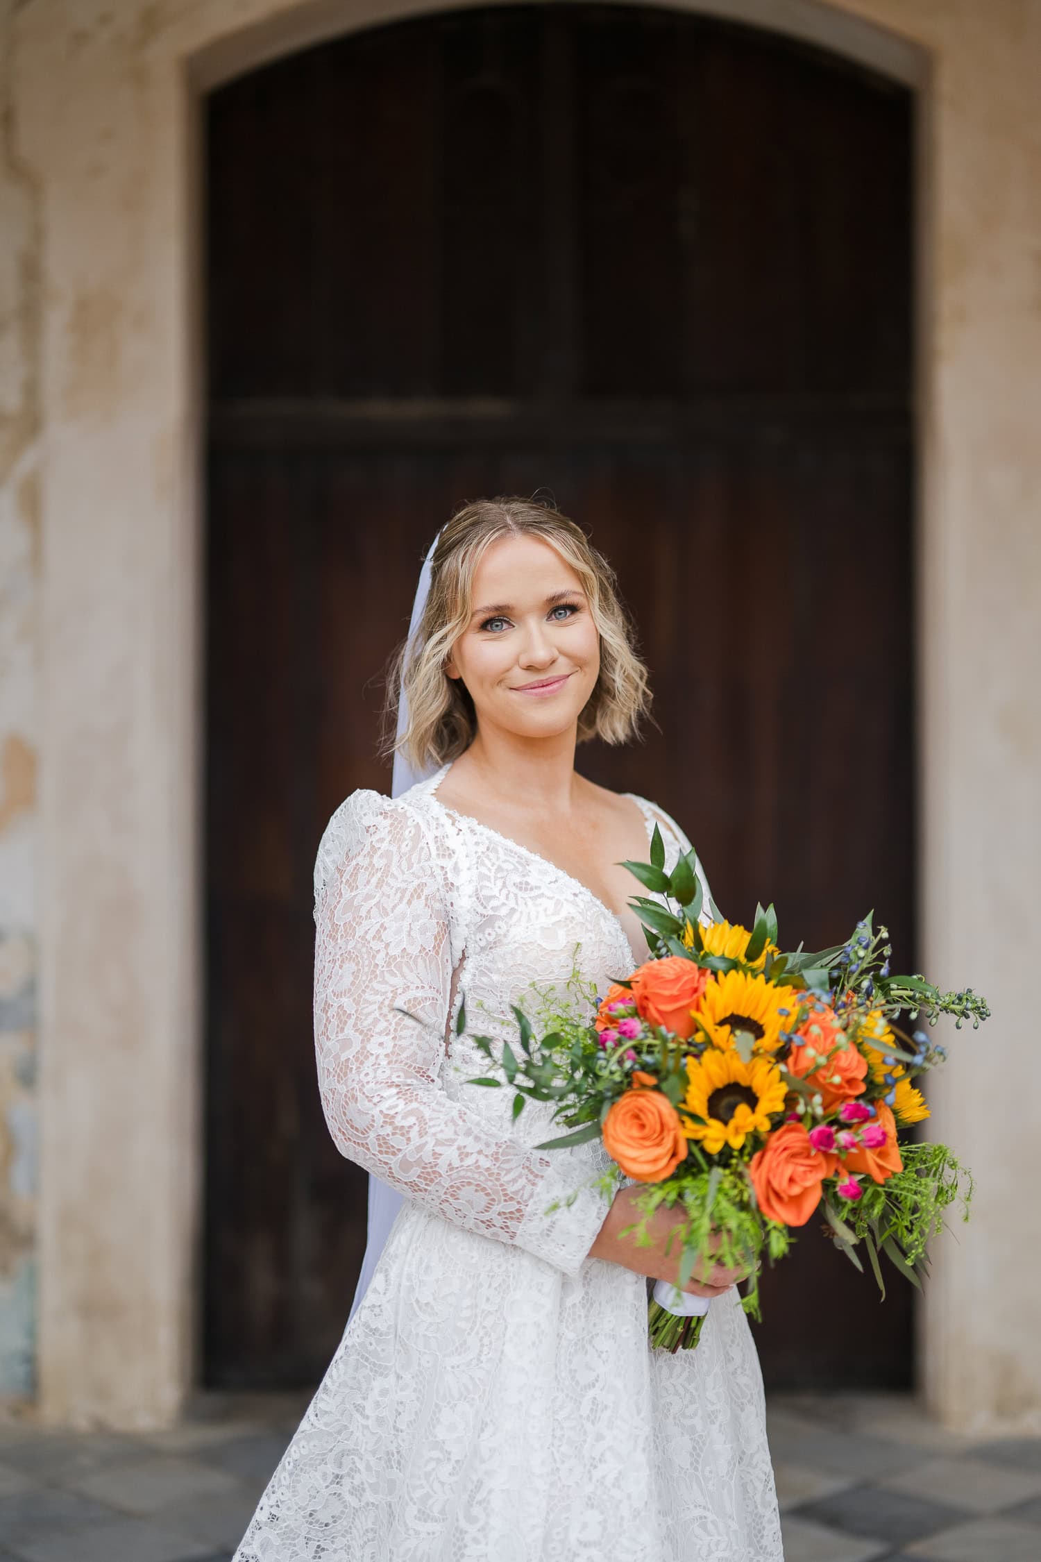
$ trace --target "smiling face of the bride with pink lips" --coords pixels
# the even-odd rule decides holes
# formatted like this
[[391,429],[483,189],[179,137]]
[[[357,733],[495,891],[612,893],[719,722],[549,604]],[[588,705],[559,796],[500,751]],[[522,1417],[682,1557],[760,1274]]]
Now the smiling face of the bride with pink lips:
[[599,634],[571,565],[542,537],[499,537],[471,600],[445,670],[462,678],[478,725],[523,737],[573,728],[599,673]]

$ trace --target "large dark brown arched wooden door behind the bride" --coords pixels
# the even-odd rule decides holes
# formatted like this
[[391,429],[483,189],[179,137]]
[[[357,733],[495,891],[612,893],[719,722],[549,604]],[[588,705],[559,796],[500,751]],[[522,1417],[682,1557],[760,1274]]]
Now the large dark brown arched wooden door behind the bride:
[[[735,918],[913,961],[911,98],[621,5],[378,28],[208,111],[206,1375],[314,1381],[365,1242],[325,1129],[311,870],[421,553],[549,492],[615,562],[656,726],[588,748]],[[815,1231],[776,1384],[904,1384],[910,1296]],[[851,1351],[851,1340],[855,1350]]]

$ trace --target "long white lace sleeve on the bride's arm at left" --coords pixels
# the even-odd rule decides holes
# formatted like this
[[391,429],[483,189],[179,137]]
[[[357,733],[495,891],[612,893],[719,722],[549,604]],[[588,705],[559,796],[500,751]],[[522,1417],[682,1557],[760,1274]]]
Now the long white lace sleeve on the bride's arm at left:
[[[315,864],[315,1051],[322,1107],[343,1156],[467,1231],[576,1276],[609,1201],[501,1137],[439,1084],[453,979],[445,868],[418,812],[354,792]],[[396,1006],[423,1020],[395,1012]]]

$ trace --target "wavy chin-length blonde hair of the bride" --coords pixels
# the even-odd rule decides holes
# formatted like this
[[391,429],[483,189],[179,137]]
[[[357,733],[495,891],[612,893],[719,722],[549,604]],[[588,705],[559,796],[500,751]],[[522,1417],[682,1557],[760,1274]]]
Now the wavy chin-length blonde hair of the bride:
[[[459,678],[445,662],[470,623],[473,578],[485,550],[499,537],[540,537],[582,583],[599,631],[599,676],[579,715],[577,740],[634,737],[651,704],[648,670],[635,651],[629,615],[618,597],[615,572],[573,520],[549,505],[517,497],[479,498],[456,511],[442,528],[431,561],[431,590],[415,639],[395,651],[387,679],[384,753],[398,750],[417,769],[457,759],[473,742],[478,717]],[[395,740],[404,694],[409,720]]]

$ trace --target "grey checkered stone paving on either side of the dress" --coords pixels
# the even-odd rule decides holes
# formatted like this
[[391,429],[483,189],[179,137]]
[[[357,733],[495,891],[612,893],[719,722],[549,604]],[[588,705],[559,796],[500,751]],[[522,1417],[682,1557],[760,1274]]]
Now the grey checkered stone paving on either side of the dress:
[[[306,1403],[203,1396],[137,1437],[0,1421],[0,1562],[226,1562]],[[897,1395],[804,1395],[771,1400],[769,1442],[785,1562],[1041,1559],[1041,1439],[950,1437]]]

